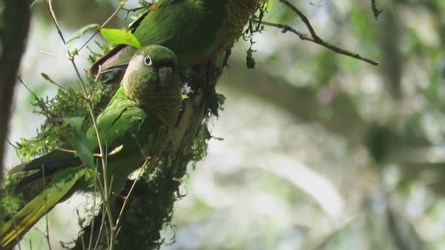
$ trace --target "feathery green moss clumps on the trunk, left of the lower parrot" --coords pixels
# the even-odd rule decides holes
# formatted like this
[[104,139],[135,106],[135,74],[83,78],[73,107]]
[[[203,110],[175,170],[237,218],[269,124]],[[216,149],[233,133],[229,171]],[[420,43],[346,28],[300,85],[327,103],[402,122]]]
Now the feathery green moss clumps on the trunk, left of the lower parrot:
[[[90,103],[97,115],[108,103],[111,94],[106,92],[107,88],[103,84],[90,84],[87,86],[90,94]],[[19,157],[25,162],[35,156],[42,156],[49,151],[53,151],[64,141],[71,140],[72,128],[63,122],[67,117],[83,117],[83,126],[87,128],[92,123],[88,112],[87,100],[82,95],[69,88],[67,91],[58,90],[55,97],[49,99],[36,99],[33,103],[34,113],[47,117],[47,120],[38,128],[35,138],[21,138],[15,144],[15,149]],[[0,217],[8,219],[11,214],[17,212],[27,202],[42,191],[41,181],[31,181],[24,185],[26,176],[32,176],[34,172],[10,174],[1,188]],[[47,177],[47,183],[51,177]],[[17,186],[20,188],[17,188]]]

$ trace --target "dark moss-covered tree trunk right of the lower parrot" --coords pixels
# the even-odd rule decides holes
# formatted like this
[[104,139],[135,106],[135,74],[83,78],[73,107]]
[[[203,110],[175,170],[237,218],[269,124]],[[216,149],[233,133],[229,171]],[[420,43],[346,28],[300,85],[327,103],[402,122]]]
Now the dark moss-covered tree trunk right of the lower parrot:
[[[213,58],[206,67],[189,68],[181,72],[181,80],[191,88],[184,99],[181,113],[172,140],[165,155],[154,165],[145,178],[136,182],[123,216],[120,218],[118,237],[113,249],[156,249],[163,239],[161,229],[170,223],[175,201],[181,198],[179,185],[185,180],[187,167],[202,159],[207,152],[207,141],[211,138],[207,130],[207,119],[218,115],[223,97],[216,94],[215,86],[223,73],[230,49]],[[128,181],[122,197],[127,196],[133,181]],[[118,207],[122,206],[122,200]],[[95,217],[95,225],[100,225],[102,214]],[[93,232],[92,232],[93,231]],[[99,237],[98,249],[109,249],[106,233],[99,235],[99,226],[87,226],[76,240],[73,249],[88,249],[91,242]]]

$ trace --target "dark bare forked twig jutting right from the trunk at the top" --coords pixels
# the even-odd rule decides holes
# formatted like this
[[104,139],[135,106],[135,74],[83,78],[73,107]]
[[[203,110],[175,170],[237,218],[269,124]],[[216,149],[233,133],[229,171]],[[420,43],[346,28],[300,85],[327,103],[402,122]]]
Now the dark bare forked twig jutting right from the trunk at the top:
[[[327,49],[334,51],[335,53],[339,53],[344,56],[350,56],[352,58],[362,60],[366,63],[371,64],[371,65],[379,65],[380,64],[380,62],[378,62],[378,61],[371,60],[369,58],[364,58],[363,56],[360,56],[358,53],[353,53],[353,52],[347,51],[346,49],[341,49],[333,44],[330,44],[329,42],[325,42],[323,39],[321,39],[316,34],[314,28],[312,27],[311,23],[309,22],[309,19],[307,19],[307,17],[300,10],[298,10],[298,8],[296,8],[296,6],[293,6],[292,3],[289,3],[289,1],[287,1],[287,0],[280,0],[280,2],[284,3],[284,5],[286,7],[290,8],[293,12],[295,12],[298,15],[298,17],[301,18],[302,22],[307,26],[307,29],[309,30],[310,35],[306,34],[306,33],[302,33],[300,31],[297,31],[295,28],[291,28],[291,26],[285,25],[285,24],[274,24],[274,23],[264,22],[264,21],[261,21],[261,24],[264,24],[266,26],[273,26],[276,28],[281,28],[282,33],[286,33],[288,31],[290,31],[291,33],[298,35],[298,37],[301,40],[307,40],[310,42],[314,42],[318,45],[321,45]],[[253,20],[253,21],[259,22],[257,20]]]

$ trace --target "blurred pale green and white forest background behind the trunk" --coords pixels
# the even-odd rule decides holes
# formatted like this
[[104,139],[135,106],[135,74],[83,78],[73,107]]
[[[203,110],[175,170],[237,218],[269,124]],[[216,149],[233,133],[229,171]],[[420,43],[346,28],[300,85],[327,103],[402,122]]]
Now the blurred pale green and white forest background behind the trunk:
[[[282,3],[268,2],[265,21],[307,32]],[[190,167],[162,249],[445,249],[445,2],[376,2],[378,20],[371,1],[291,1],[321,38],[380,61],[377,67],[265,27],[253,38],[257,65],[247,69],[250,44],[235,44],[218,83],[224,110],[209,122],[215,139]],[[118,1],[54,6],[69,38],[104,22]],[[44,72],[78,88],[44,6],[32,11],[24,83],[38,97],[54,96]],[[108,27],[126,27],[126,15]],[[99,51],[94,42],[90,49]],[[81,69],[88,53],[76,57]],[[17,85],[12,143],[43,122],[33,98]],[[19,162],[8,147],[6,165]],[[79,195],[49,214],[52,249],[76,237],[85,203]],[[48,249],[44,222],[38,227],[21,249],[29,240],[32,249]]]

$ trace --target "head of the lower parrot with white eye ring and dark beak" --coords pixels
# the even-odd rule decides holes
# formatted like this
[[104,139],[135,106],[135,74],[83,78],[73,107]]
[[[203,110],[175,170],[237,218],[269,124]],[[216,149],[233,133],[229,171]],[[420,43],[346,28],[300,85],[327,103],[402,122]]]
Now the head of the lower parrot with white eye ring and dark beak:
[[143,100],[151,93],[178,88],[177,57],[161,45],[142,47],[129,61],[122,79],[125,94]]

